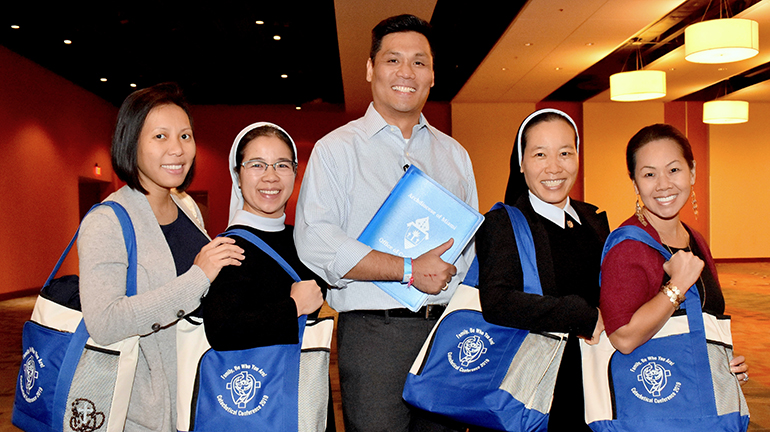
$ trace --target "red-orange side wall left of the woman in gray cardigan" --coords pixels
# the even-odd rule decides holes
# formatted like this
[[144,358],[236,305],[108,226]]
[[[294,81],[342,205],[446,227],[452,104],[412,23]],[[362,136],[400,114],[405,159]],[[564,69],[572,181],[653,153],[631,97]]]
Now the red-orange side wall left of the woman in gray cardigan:
[[0,65],[2,295],[45,282],[78,226],[78,177],[98,163],[112,179],[117,109],[2,46]]

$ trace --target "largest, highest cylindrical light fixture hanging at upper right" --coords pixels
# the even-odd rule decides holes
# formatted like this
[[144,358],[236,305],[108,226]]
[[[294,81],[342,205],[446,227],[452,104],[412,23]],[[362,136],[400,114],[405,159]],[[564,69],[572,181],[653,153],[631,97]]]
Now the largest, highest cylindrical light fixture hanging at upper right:
[[759,53],[759,24],[722,18],[692,24],[684,30],[684,58],[693,63],[731,63]]

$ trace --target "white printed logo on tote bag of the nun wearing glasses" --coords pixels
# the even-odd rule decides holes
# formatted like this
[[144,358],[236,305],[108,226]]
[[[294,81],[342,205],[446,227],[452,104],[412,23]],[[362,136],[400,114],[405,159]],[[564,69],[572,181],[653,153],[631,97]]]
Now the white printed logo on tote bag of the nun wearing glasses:
[[225,389],[230,391],[230,399],[233,406],[228,405],[224,395],[217,395],[219,406],[234,416],[250,416],[259,412],[270,398],[268,395],[262,395],[260,399],[255,399],[257,390],[262,388],[262,382],[258,377],[264,378],[267,373],[250,364],[236,365],[220,375],[225,381]]

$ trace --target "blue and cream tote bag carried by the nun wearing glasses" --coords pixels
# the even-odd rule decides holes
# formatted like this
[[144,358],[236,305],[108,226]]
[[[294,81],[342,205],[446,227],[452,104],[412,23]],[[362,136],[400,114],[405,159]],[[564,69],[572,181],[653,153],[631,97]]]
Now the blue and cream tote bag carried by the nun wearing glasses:
[[[233,229],[300,277],[262,239]],[[193,318],[190,318],[192,320]],[[299,343],[216,351],[202,322],[177,324],[179,431],[322,431],[329,401],[333,318],[298,318]]]

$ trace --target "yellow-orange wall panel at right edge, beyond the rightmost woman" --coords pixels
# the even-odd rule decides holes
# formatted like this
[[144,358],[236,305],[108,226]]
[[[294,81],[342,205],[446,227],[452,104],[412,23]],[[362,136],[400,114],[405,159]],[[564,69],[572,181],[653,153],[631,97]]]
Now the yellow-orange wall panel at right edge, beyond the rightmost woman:
[[770,257],[770,104],[749,110],[748,123],[709,127],[714,258]]

